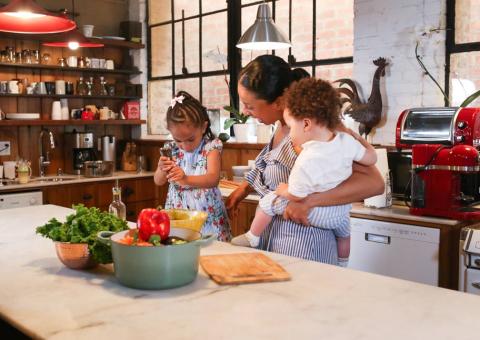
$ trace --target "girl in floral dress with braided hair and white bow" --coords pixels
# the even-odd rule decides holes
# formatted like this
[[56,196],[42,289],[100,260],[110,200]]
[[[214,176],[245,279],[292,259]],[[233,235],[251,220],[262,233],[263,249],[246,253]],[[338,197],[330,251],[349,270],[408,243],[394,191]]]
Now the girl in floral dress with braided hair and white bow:
[[218,189],[222,142],[210,130],[207,110],[185,91],[172,99],[167,111],[172,134],[172,158],[160,157],[154,180],[170,182],[166,209],[191,209],[208,213],[202,233],[215,233],[218,240],[231,238],[227,213]]

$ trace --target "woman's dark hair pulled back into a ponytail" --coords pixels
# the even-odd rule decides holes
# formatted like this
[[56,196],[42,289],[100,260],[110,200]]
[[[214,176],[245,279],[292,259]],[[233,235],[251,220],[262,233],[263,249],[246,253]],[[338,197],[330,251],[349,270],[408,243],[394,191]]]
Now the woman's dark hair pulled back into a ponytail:
[[258,99],[273,103],[292,82],[309,76],[303,69],[292,71],[282,58],[265,54],[253,59],[240,71],[239,82]]

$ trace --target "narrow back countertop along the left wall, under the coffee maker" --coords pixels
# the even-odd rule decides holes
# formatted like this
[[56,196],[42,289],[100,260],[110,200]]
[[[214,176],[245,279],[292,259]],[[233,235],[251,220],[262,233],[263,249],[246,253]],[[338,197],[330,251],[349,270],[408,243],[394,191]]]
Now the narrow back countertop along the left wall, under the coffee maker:
[[[19,191],[25,189],[35,189],[42,188],[46,186],[54,185],[68,185],[76,183],[88,183],[88,182],[101,182],[101,181],[112,181],[116,179],[129,179],[129,178],[140,178],[140,177],[152,177],[154,172],[152,171],[143,171],[143,172],[132,172],[132,171],[116,171],[112,176],[107,177],[85,177],[82,175],[62,175],[62,176],[45,176],[44,180],[41,177],[35,177],[30,182],[25,184],[20,184],[14,182],[14,184],[0,185],[0,193],[2,191]],[[64,178],[60,181],[51,181],[49,179],[54,178]]]

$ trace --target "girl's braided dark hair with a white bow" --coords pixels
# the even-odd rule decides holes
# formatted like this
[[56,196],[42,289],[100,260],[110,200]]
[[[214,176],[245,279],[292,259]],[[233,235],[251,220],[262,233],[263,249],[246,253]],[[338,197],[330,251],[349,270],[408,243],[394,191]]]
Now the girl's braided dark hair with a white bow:
[[167,126],[170,124],[184,124],[189,123],[195,127],[203,127],[205,122],[208,122],[207,129],[203,134],[204,137],[212,140],[215,138],[210,129],[210,118],[208,117],[207,109],[200,104],[190,93],[186,91],[177,92],[175,98],[183,96],[183,100],[177,101],[175,105],[169,106],[167,110]]

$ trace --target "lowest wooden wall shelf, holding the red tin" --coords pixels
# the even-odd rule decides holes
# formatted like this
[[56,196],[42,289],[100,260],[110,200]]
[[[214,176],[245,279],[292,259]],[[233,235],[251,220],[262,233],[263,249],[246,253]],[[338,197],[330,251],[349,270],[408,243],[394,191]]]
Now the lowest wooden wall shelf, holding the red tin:
[[142,125],[146,120],[141,119],[110,119],[110,120],[41,120],[41,119],[4,119],[0,120],[3,126],[63,126],[63,125]]

